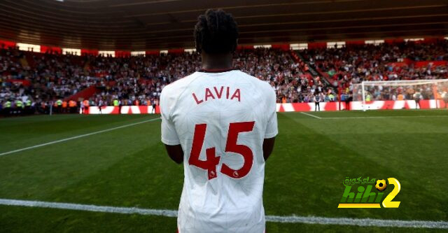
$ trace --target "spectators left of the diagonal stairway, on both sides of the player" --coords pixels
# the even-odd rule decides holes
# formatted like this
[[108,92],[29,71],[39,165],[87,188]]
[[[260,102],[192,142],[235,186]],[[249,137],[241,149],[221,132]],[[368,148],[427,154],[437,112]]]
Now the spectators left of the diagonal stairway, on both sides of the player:
[[[297,83],[307,92],[314,80],[302,71],[290,51],[238,50],[235,69],[266,80],[276,88],[279,101],[297,98]],[[73,94],[93,85],[97,92],[76,106],[154,104],[165,85],[200,70],[197,53],[146,57],[73,56],[24,52],[13,48],[0,52],[0,103],[8,113],[71,112]],[[311,84],[311,85],[310,85]],[[289,100],[288,100],[289,101]]]

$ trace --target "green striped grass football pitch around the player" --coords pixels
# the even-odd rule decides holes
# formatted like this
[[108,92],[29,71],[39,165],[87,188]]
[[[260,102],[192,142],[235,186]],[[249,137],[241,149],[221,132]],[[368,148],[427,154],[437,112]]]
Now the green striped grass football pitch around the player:
[[[268,221],[267,232],[448,231],[447,110],[279,113],[278,119],[263,202],[266,215],[280,220]],[[397,178],[401,190],[393,201],[400,207],[338,209],[346,176]],[[52,205],[175,211],[182,185],[183,166],[165,153],[157,115],[0,119],[0,232],[176,232],[174,217]],[[13,200],[50,206],[11,206]],[[279,223],[284,216],[323,218]],[[347,225],[346,218],[442,227]]]

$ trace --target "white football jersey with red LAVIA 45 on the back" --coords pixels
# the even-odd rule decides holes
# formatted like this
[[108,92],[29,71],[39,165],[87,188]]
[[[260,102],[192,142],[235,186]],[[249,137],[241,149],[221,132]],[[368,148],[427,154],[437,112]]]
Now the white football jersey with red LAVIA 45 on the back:
[[262,143],[276,136],[272,87],[241,71],[195,72],[160,96],[162,142],[181,145],[178,230],[265,231]]

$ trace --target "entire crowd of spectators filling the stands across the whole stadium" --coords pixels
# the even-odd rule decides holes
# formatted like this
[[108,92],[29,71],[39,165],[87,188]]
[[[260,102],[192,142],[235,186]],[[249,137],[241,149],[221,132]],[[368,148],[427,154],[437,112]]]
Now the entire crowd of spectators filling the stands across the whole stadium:
[[[448,43],[395,43],[295,52],[237,50],[234,68],[268,82],[283,103],[342,101],[363,80],[448,78],[447,66],[415,67],[412,61],[448,60]],[[401,62],[401,63],[400,63]],[[402,65],[397,65],[402,64]],[[312,76],[309,66],[321,76]],[[81,106],[152,105],[165,85],[200,70],[195,52],[104,57],[0,49],[0,108],[3,114],[77,112]],[[94,86],[90,99],[69,99]],[[372,93],[373,94],[373,93]],[[395,93],[398,94],[398,93]],[[392,97],[390,97],[392,98]]]

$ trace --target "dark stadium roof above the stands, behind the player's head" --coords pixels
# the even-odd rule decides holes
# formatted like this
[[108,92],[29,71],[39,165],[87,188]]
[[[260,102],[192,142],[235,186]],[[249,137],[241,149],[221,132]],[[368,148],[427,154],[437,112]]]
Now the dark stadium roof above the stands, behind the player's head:
[[64,48],[192,48],[207,8],[232,13],[239,43],[446,36],[446,0],[2,0],[0,38]]

